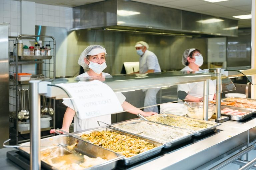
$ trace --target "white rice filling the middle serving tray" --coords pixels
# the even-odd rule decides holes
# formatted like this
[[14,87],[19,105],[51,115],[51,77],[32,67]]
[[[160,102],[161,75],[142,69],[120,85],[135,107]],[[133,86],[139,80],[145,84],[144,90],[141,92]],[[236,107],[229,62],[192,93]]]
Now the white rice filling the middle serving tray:
[[[189,133],[183,132],[181,130],[176,130],[171,127],[166,127],[163,125],[155,125],[147,122],[135,122],[130,124],[120,124],[114,125],[116,128],[128,131],[130,133],[135,133],[141,136],[157,139],[160,141],[169,142],[174,139],[188,135]],[[143,133],[141,133],[143,132]]]

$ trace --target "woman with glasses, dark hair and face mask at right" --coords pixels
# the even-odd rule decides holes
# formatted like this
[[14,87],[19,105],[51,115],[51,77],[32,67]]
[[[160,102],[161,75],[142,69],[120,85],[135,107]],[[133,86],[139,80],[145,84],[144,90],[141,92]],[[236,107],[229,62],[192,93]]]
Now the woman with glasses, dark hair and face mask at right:
[[[202,71],[199,67],[203,65],[203,56],[200,50],[191,48],[186,49],[183,53],[182,64],[185,66],[181,71]],[[188,83],[178,85],[178,100],[186,102],[200,102],[203,100],[204,82]],[[209,82],[209,100],[215,100],[216,83],[212,80]],[[183,103],[180,101],[178,103]]]

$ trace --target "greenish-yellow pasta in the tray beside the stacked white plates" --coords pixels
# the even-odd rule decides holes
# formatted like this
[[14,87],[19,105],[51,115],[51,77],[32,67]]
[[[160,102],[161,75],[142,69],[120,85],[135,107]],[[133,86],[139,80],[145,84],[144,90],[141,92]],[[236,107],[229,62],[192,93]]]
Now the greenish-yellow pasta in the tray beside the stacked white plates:
[[192,120],[192,119],[187,119],[187,118],[179,118],[179,117],[171,117],[171,116],[167,116],[167,117],[152,117],[152,118],[148,118],[151,121],[154,122],[159,122],[162,124],[166,124],[166,125],[172,125],[172,126],[176,126],[176,127],[180,127],[180,128],[186,128],[186,129],[190,129],[190,130],[203,130],[206,128],[211,127],[210,124],[206,124],[206,123],[200,123],[198,121]]

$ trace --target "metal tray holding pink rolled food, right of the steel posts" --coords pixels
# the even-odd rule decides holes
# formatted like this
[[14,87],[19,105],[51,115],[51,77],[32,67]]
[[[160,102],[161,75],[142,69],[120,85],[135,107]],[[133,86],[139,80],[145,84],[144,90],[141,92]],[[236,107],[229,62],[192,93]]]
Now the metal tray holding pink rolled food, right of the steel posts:
[[234,106],[221,105],[221,110],[224,108],[229,108],[229,109],[233,109],[233,110],[239,110],[241,112],[246,112],[245,115],[232,115],[232,114],[221,113],[221,115],[228,116],[230,120],[234,120],[234,121],[242,121],[246,118],[250,118],[252,116],[252,114],[255,112],[254,109],[245,109],[245,108],[239,108],[239,107],[234,107]]

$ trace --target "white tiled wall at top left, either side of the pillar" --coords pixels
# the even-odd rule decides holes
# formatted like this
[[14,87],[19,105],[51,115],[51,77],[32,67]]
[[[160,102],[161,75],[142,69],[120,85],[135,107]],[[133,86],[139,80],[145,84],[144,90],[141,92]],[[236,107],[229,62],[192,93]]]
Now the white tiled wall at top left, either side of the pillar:
[[[20,1],[0,0],[0,23],[10,23],[9,36],[21,34],[20,9]],[[42,26],[72,28],[72,15],[72,8],[69,7],[36,4],[35,23]]]

